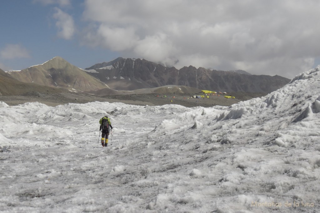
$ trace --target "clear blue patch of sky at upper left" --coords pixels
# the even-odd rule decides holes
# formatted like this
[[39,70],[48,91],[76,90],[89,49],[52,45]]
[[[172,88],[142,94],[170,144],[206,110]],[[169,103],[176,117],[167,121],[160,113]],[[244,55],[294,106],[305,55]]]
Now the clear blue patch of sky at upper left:
[[[56,1],[55,1],[56,2]],[[72,15],[76,26],[82,27],[81,14],[83,4],[62,6],[66,13]],[[74,34],[71,39],[58,35],[57,20],[53,18],[60,4],[43,4],[40,1],[8,0],[1,3],[0,26],[2,39],[0,50],[14,50],[14,56],[0,58],[1,69],[20,70],[32,65],[42,64],[49,59],[60,56],[71,64],[81,68],[89,67],[105,60],[120,56],[116,52],[99,47],[87,47],[79,43]],[[22,52],[22,53],[21,53]],[[4,55],[4,54],[3,54]]]

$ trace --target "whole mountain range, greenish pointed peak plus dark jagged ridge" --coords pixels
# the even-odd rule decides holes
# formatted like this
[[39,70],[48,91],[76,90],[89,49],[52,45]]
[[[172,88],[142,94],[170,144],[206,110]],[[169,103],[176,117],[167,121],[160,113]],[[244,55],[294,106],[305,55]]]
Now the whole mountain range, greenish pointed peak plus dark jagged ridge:
[[[190,87],[212,91],[270,93],[290,81],[277,75],[251,75],[242,70],[218,71],[193,66],[178,70],[145,59],[122,57],[81,69],[59,56],[21,71],[2,71],[1,78],[15,80],[16,84],[42,85],[45,86],[42,88],[44,91],[47,88],[62,88],[100,95],[115,90],[141,90],[167,85],[184,86],[185,91],[190,91]],[[3,90],[5,84],[0,87],[2,95],[7,94]]]

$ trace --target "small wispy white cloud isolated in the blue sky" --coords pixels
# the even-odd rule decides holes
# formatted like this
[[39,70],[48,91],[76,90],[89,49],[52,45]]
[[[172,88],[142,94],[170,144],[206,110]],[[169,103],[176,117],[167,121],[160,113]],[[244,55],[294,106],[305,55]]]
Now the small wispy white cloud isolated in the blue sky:
[[75,33],[75,23],[68,13],[62,11],[61,9],[55,7],[55,13],[53,18],[57,19],[56,27],[58,27],[58,37],[69,40]]

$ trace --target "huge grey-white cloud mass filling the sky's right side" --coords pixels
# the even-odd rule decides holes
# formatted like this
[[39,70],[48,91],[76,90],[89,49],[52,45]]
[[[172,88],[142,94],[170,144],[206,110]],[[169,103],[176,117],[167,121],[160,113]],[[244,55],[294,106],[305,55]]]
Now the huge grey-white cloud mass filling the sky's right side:
[[124,57],[288,78],[320,57],[317,0],[85,0],[84,7],[96,26],[84,42]]

